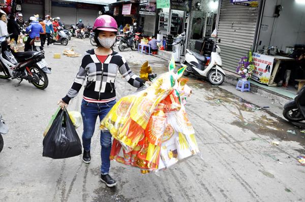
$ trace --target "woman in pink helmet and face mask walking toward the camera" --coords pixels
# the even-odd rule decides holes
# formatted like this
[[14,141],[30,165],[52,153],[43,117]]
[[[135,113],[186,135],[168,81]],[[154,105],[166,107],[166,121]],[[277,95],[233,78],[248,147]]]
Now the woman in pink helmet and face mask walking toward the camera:
[[[86,81],[81,104],[83,119],[83,161],[89,163],[90,144],[94,133],[97,117],[102,120],[116,103],[114,81],[117,70],[132,86],[139,88],[145,81],[136,76],[129,68],[126,59],[111,48],[116,40],[117,24],[109,15],[99,16],[93,26],[97,48],[88,50],[82,58],[80,69],[67,95],[58,101],[62,108],[68,107],[70,100],[77,96]],[[150,82],[148,82],[150,83]],[[108,187],[116,185],[109,175],[111,134],[101,130],[101,181]]]

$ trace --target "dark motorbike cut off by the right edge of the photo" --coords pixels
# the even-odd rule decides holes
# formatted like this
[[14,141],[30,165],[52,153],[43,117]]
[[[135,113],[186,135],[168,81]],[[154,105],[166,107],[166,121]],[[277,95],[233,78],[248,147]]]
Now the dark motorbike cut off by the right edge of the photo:
[[284,105],[283,116],[291,122],[305,120],[305,86],[296,93],[294,99]]

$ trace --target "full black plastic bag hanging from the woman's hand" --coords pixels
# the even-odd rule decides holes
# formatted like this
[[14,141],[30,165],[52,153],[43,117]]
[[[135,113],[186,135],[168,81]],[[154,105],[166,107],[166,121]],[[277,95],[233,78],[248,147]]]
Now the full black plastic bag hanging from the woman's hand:
[[66,109],[60,109],[46,137],[42,156],[58,159],[82,153],[81,142]]

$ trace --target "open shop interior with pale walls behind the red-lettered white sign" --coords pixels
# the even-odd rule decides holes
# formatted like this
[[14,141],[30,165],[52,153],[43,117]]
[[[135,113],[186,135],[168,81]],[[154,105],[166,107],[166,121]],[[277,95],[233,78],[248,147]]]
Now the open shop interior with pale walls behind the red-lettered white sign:
[[305,83],[304,22],[305,1],[269,0],[264,5],[256,52],[280,58],[278,70],[273,62],[274,80],[264,87],[288,97]]

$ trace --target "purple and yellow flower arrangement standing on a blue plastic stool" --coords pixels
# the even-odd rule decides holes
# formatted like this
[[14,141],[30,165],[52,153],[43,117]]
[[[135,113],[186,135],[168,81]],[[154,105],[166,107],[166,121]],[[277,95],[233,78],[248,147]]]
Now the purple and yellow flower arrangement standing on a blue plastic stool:
[[241,76],[243,81],[247,81],[254,71],[254,64],[252,59],[252,52],[249,51],[248,56],[240,58],[238,66],[236,68],[236,73]]

